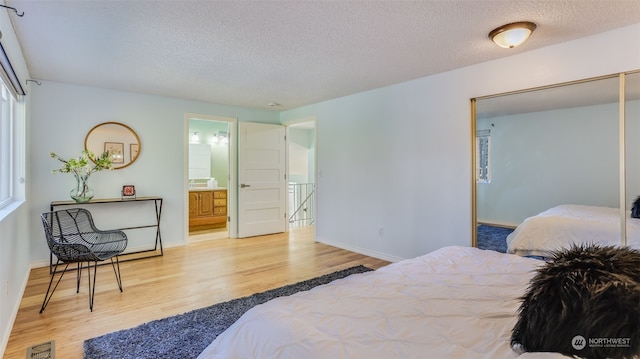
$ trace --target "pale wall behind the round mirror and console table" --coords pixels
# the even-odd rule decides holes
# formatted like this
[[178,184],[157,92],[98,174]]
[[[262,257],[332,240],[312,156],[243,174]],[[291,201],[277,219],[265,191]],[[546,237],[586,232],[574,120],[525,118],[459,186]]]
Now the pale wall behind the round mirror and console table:
[[[77,156],[87,132],[106,121],[122,122],[140,137],[140,155],[135,163],[117,171],[92,175],[96,198],[120,196],[123,184],[136,186],[138,196],[160,196],[162,239],[165,247],[184,243],[185,153],[188,124],[185,113],[236,117],[239,121],[278,123],[278,114],[268,111],[185,101],[151,95],[82,87],[43,81],[32,91],[32,131],[30,137],[31,188],[31,260],[48,262],[48,248],[42,224],[36,219],[54,200],[67,200],[73,179],[68,174],[52,174],[58,163],[49,158],[54,151],[62,157]],[[111,206],[111,205],[110,205]],[[128,205],[114,205],[105,211],[120,212]],[[104,208],[104,207],[103,207]],[[140,212],[152,213],[149,210]],[[97,220],[100,226],[113,225],[108,216]],[[132,232],[133,233],[133,232]],[[141,240],[130,247],[142,246]]]

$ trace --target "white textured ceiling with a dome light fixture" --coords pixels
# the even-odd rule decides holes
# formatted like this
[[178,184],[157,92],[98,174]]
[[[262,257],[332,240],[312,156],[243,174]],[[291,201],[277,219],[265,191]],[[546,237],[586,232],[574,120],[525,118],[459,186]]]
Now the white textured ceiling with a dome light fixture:
[[[33,79],[278,111],[640,23],[637,0],[5,3]],[[487,38],[521,20],[524,45]]]

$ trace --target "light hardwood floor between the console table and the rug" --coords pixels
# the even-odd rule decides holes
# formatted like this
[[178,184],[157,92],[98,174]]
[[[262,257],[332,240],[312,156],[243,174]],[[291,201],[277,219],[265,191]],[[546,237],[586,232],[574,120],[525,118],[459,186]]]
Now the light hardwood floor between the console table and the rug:
[[[195,239],[195,237],[194,237]],[[388,262],[315,242],[313,227],[245,239],[206,240],[168,248],[163,257],[120,264],[124,292],[110,265],[98,268],[93,312],[86,271],[80,293],[67,273],[39,314],[48,268],[31,271],[4,358],[25,358],[27,348],[55,340],[56,358],[82,358],[82,343],[120,329],[355,265]]]

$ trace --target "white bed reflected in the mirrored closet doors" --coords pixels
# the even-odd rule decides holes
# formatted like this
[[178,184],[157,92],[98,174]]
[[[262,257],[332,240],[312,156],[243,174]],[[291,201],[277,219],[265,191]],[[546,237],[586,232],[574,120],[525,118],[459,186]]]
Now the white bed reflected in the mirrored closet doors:
[[[573,244],[620,245],[618,208],[565,204],[525,219],[507,236],[507,253],[549,257]],[[640,248],[640,219],[627,213],[627,244]]]

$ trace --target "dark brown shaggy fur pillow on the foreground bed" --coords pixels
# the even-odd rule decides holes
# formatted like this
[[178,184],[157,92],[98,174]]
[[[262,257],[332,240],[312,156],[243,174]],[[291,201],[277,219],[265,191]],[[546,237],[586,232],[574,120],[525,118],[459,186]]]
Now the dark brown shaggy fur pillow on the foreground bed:
[[556,252],[522,297],[511,345],[588,359],[640,357],[640,251],[582,245]]

